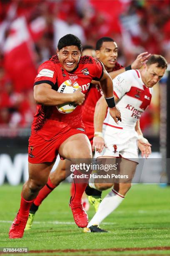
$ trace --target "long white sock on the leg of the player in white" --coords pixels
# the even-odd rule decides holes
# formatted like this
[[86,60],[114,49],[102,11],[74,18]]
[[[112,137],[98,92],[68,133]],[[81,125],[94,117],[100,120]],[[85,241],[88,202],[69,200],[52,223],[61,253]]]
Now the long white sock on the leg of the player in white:
[[117,191],[112,189],[111,192],[103,198],[97,212],[93,216],[92,220],[90,220],[90,222],[88,223],[87,228],[92,225],[100,225],[102,220],[104,220],[112,211],[114,211],[120,205],[124,197],[125,196],[120,195]]

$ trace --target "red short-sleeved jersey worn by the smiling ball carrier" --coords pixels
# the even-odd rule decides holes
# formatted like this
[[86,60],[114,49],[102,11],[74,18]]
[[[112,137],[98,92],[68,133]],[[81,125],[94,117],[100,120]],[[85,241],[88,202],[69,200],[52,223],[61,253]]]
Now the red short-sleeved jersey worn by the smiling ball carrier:
[[[57,90],[63,82],[70,79],[77,82],[82,87],[82,92],[86,94],[92,79],[100,80],[102,75],[102,64],[95,58],[80,57],[77,68],[69,73],[62,67],[55,55],[40,65],[34,85],[47,83],[52,86],[53,90]],[[60,133],[63,128],[77,127],[77,125],[80,127],[83,125],[82,106],[77,106],[70,114],[63,114],[57,110],[56,106],[37,105],[31,130],[49,140]]]

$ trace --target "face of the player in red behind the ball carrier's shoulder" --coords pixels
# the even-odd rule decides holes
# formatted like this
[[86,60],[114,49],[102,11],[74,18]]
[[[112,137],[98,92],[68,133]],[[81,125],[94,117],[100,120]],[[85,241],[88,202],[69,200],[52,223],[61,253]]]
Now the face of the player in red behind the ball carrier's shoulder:
[[114,68],[117,60],[117,44],[115,42],[103,42],[100,50],[96,51],[96,56],[102,61],[107,71]]

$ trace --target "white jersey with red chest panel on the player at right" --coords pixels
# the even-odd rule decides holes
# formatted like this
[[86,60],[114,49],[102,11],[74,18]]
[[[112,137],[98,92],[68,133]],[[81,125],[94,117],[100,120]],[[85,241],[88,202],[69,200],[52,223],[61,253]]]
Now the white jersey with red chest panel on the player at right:
[[119,98],[116,104],[121,113],[119,125],[107,111],[105,125],[118,129],[134,129],[143,111],[150,105],[153,88],[148,88],[142,81],[139,70],[128,70],[113,79],[114,95]]

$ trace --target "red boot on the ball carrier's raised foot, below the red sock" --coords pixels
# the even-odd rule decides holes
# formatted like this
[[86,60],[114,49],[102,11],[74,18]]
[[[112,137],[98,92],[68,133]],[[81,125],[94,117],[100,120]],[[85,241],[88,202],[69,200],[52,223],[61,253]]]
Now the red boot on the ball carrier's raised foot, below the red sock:
[[75,220],[75,224],[79,228],[87,227],[88,215],[87,215],[85,209],[83,208],[82,203],[81,202],[71,202],[71,198],[70,198],[69,206],[72,210],[72,214],[73,214],[73,218]]

